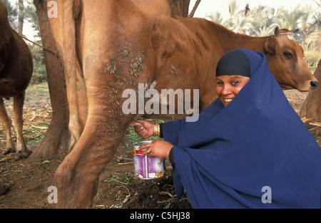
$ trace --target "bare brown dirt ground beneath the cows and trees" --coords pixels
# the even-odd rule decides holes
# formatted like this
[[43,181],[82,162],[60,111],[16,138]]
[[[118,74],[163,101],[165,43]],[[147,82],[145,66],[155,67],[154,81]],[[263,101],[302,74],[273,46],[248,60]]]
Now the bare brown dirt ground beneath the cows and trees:
[[[293,108],[300,112],[307,93],[296,90],[285,92]],[[6,107],[11,114],[12,101]],[[29,150],[34,150],[46,132],[51,120],[51,105],[46,85],[29,87],[24,105],[24,137]],[[321,145],[320,128],[309,125],[312,134]],[[318,135],[317,135],[318,134]],[[0,150],[4,148],[4,131],[0,127]],[[133,154],[128,145],[116,152],[99,179],[98,193],[93,209],[103,208],[190,208],[184,195],[178,200],[173,189],[173,170],[166,164],[165,177],[156,180],[140,180],[133,176]],[[9,192],[0,195],[0,209],[51,209],[48,202],[54,185],[54,172],[62,160],[39,160],[30,162],[16,160],[14,154],[0,155],[0,184]]]

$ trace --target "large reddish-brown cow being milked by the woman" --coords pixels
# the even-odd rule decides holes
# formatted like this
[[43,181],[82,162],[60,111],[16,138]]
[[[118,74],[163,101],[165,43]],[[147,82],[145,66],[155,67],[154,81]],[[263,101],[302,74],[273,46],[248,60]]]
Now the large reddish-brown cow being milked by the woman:
[[158,92],[199,89],[203,110],[217,97],[219,58],[235,48],[264,52],[284,89],[317,85],[302,48],[278,32],[251,37],[205,19],[171,17],[167,0],[56,2],[51,29],[66,75],[69,127],[77,141],[56,171],[58,207],[91,206],[99,175],[139,116],[123,113],[126,89],[138,93],[140,83]]

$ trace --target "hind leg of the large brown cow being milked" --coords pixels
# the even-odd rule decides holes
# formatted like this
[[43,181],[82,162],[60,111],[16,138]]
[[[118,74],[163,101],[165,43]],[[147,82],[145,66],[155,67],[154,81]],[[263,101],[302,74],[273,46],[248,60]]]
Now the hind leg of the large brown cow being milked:
[[134,118],[122,113],[121,94],[111,93],[115,87],[106,89],[102,84],[96,89],[95,95],[88,90],[88,119],[81,138],[56,170],[59,208],[91,207],[98,178]]

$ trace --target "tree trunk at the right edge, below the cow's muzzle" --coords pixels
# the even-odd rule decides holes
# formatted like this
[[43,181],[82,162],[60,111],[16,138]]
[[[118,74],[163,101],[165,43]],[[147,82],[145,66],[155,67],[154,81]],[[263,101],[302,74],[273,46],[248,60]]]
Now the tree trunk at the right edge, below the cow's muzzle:
[[[315,78],[321,83],[321,60],[315,70]],[[308,118],[314,122],[321,123],[321,87],[312,90],[305,99],[300,112],[301,118]]]

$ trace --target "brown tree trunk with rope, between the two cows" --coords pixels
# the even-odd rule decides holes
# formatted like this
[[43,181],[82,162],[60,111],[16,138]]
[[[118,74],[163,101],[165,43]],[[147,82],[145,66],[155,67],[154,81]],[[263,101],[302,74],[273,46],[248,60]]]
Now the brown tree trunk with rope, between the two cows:
[[[47,16],[46,0],[34,0],[34,5],[38,14],[43,46],[56,52],[56,44]],[[66,83],[58,53],[54,54],[44,50],[44,58],[51,98],[52,118],[44,139],[41,140],[40,145],[29,159],[44,158],[51,160],[66,155],[65,152],[68,149],[69,142],[69,110],[66,98]]]

